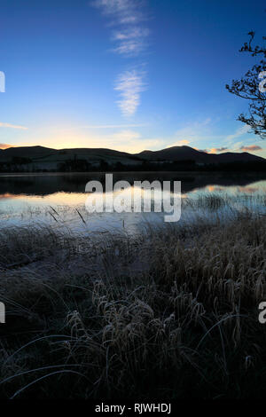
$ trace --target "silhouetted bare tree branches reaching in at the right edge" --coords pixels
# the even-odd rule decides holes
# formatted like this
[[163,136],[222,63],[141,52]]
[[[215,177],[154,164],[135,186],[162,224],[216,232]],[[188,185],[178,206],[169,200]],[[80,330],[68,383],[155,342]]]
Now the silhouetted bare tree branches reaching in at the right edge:
[[[240,98],[250,100],[249,114],[239,114],[238,120],[250,126],[255,135],[265,139],[266,94],[263,78],[265,79],[266,74],[262,74],[262,72],[266,71],[266,48],[262,45],[254,46],[254,31],[249,32],[248,35],[250,36],[249,42],[244,43],[240,52],[248,52],[253,57],[262,57],[262,60],[247,71],[243,78],[233,80],[231,86],[227,84],[226,89]],[[265,39],[266,36],[262,36],[262,40]],[[262,88],[259,88],[259,86]]]

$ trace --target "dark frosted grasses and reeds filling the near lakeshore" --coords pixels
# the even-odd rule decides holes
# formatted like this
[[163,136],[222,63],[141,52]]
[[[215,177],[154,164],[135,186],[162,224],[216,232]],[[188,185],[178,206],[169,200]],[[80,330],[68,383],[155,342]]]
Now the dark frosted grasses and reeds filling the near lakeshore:
[[264,397],[264,216],[104,241],[0,232],[1,398]]

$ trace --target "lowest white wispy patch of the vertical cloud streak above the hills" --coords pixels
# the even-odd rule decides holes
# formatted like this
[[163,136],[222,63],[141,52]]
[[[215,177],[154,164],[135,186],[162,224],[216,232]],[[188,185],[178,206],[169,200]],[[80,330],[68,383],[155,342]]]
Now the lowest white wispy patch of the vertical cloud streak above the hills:
[[117,103],[125,116],[136,113],[140,103],[140,93],[145,90],[144,78],[145,71],[136,69],[125,71],[118,77],[114,90],[118,90],[121,94],[121,100]]

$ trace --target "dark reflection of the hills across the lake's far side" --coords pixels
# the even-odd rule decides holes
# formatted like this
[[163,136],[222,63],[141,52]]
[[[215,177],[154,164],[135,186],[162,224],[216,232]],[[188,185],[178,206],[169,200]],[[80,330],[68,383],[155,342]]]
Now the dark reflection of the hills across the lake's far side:
[[[189,193],[193,190],[207,185],[239,185],[246,186],[256,181],[266,179],[266,174],[238,175],[233,173],[193,173],[193,172],[132,172],[114,173],[113,183],[119,180],[129,181],[131,185],[134,181],[182,181],[182,192]],[[84,173],[77,175],[29,175],[29,176],[10,176],[0,177],[0,194],[27,194],[43,196],[52,193],[84,193],[85,185],[91,180],[98,180],[105,188],[104,173]]]

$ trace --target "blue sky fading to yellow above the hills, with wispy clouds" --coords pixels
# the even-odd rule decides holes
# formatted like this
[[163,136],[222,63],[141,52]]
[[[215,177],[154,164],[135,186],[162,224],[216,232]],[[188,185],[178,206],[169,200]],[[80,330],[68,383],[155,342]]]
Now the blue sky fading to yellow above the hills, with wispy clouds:
[[[266,157],[225,90],[262,0],[1,0],[0,147],[168,146]],[[3,80],[2,80],[3,81]],[[0,80],[1,82],[1,80]],[[1,89],[0,89],[1,90]]]

